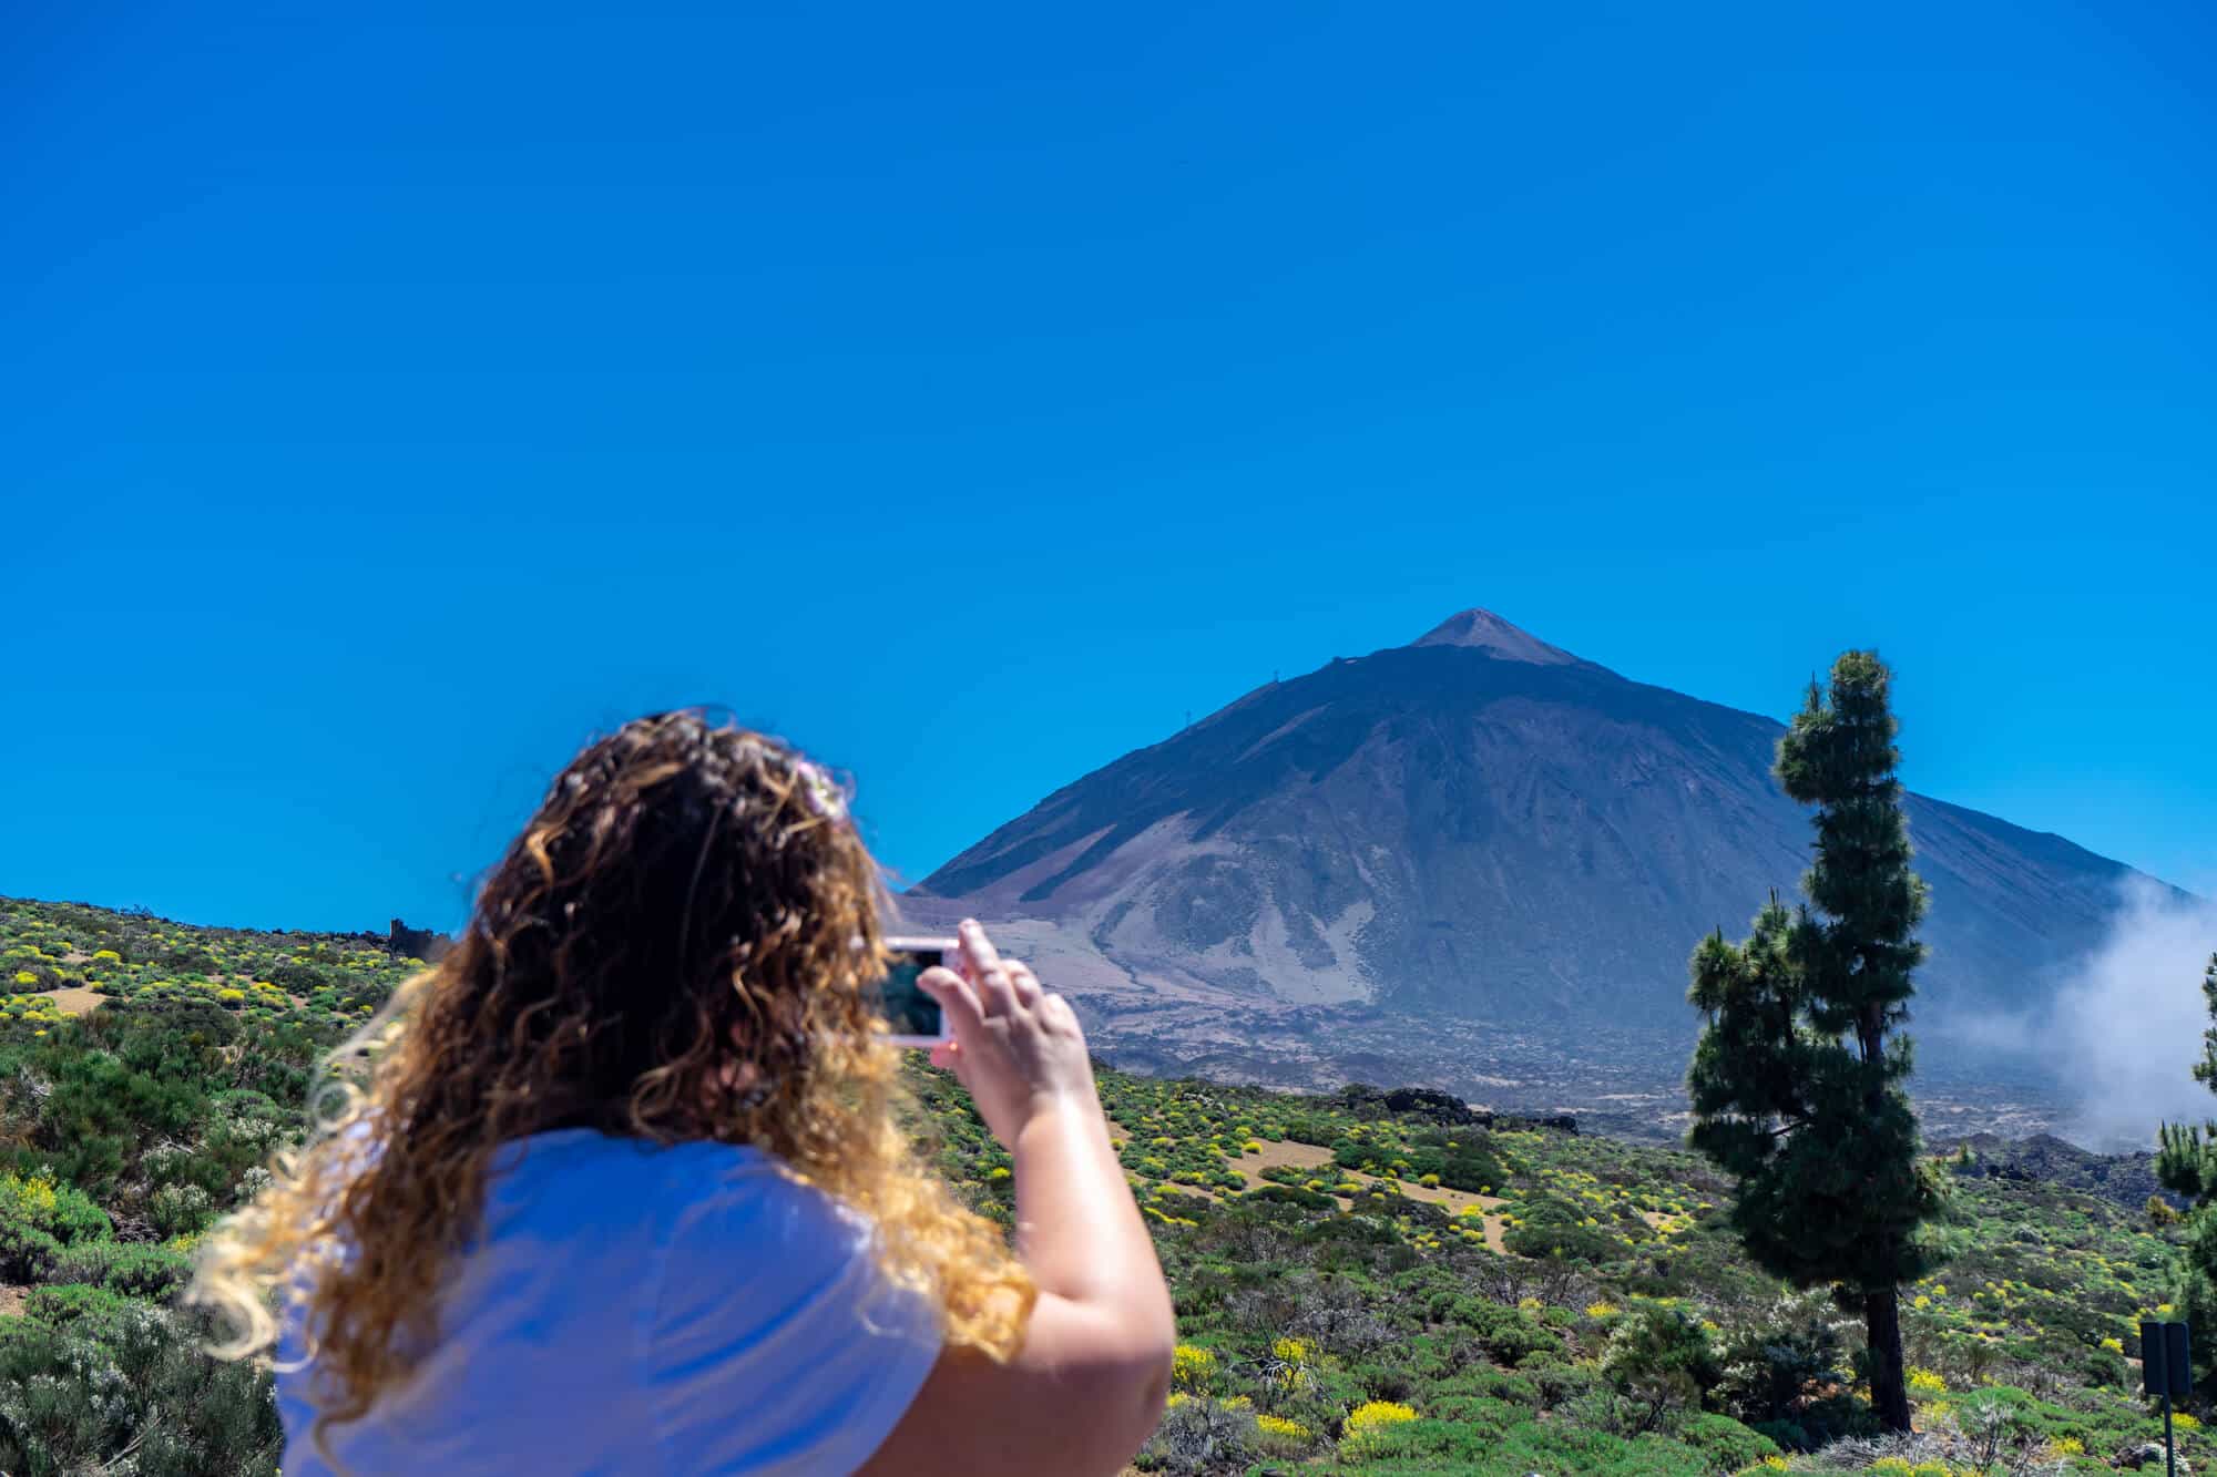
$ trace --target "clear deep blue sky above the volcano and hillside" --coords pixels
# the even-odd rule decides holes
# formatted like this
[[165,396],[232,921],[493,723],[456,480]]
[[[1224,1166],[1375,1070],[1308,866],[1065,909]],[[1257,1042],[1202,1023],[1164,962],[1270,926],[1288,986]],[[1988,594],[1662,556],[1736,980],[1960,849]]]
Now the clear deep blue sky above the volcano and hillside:
[[0,892],[452,925],[703,699],[913,880],[1465,605],[2217,880],[2201,4],[9,31]]

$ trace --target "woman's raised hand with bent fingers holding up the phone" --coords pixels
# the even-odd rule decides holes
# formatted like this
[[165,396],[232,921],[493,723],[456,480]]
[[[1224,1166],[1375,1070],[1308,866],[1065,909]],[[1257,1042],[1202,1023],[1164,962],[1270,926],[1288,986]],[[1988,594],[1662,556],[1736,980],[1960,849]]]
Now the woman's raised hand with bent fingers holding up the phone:
[[1004,960],[975,918],[964,918],[956,936],[962,971],[924,969],[916,980],[947,1011],[951,1031],[931,1049],[931,1065],[953,1069],[1009,1151],[1042,1111],[1075,1102],[1100,1113],[1071,1002],[1042,989],[1022,960]]

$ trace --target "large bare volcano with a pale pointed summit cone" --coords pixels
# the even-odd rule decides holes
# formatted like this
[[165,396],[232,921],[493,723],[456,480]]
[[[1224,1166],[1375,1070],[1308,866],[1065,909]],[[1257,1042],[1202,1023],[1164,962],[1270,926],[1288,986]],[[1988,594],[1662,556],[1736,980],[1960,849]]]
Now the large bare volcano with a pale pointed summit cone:
[[[1206,1002],[1204,1056],[1237,1049],[1242,1018],[1281,1033],[1255,1022],[1288,1009],[1680,1036],[1696,940],[1743,934],[1809,865],[1807,814],[1771,778],[1782,732],[1465,610],[1086,774],[905,909],[1013,929],[1111,1036],[1146,1033],[1146,1000]],[[1962,805],[1907,805],[1931,885],[1922,1013],[2024,1009],[2137,876]],[[1390,1051],[1363,1065],[1397,1076]]]

